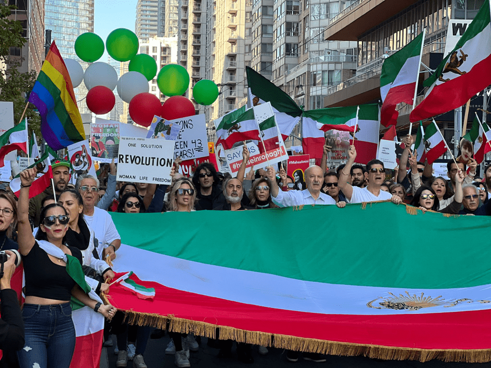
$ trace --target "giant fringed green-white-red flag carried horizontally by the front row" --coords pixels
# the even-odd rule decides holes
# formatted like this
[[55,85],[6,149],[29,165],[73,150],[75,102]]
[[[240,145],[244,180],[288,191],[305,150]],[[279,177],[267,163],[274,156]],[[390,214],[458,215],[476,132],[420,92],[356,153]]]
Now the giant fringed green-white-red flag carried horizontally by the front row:
[[[455,241],[486,238],[485,216],[448,218],[390,202],[111,216],[124,243],[114,270],[155,289],[150,300],[111,286],[111,303],[130,322],[170,321],[173,331],[208,337],[218,328],[220,339],[336,355],[491,360],[491,250]],[[383,219],[395,243],[346,247],[339,229],[354,219],[360,234]],[[203,251],[202,235],[217,228],[226,241]],[[418,229],[410,251],[407,229]],[[305,241],[292,241],[295,234]]]

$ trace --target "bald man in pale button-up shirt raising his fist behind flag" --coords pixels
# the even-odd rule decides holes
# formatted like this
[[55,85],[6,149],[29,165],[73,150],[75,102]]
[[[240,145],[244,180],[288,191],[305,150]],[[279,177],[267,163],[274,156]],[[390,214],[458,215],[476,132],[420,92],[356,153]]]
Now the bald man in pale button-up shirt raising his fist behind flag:
[[305,170],[305,190],[290,190],[283,192],[276,183],[275,171],[269,166],[267,177],[271,181],[271,198],[273,202],[280,207],[298,206],[303,204],[336,204],[338,207],[344,207],[345,202],[338,202],[325,193],[321,192],[321,186],[324,182],[324,173],[319,166],[311,166]]

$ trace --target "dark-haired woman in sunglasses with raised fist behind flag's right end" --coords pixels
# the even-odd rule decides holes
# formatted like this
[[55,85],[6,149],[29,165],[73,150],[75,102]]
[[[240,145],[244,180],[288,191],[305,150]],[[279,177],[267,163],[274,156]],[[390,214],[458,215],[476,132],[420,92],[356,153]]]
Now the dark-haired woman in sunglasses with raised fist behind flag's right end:
[[464,173],[459,170],[455,175],[455,195],[453,201],[446,207],[440,209],[438,196],[432,187],[422,186],[416,190],[411,205],[418,207],[422,212],[428,210],[441,212],[443,214],[458,214],[462,206],[463,192],[462,182],[464,181]]

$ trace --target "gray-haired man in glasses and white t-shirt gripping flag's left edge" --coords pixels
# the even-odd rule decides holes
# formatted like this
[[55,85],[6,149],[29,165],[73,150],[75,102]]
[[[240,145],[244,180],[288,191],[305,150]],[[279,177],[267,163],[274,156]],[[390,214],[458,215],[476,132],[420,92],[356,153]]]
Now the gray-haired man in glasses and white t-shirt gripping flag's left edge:
[[115,251],[121,245],[121,237],[116,230],[111,215],[101,208],[96,207],[99,201],[99,180],[92,175],[80,175],[75,188],[79,191],[84,201],[84,220],[94,230],[98,240],[96,245],[100,259],[110,255],[111,260],[116,258]]

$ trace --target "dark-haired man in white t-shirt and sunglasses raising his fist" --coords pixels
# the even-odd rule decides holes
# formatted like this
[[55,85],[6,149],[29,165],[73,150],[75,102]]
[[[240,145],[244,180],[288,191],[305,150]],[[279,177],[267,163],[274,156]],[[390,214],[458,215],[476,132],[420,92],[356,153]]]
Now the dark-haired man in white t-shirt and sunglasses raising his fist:
[[347,177],[350,173],[351,166],[356,159],[356,149],[354,145],[349,146],[348,162],[339,173],[339,189],[344,193],[349,203],[375,202],[379,200],[390,199],[394,203],[401,203],[402,199],[397,195],[384,192],[380,186],[385,180],[384,163],[380,160],[372,160],[366,164],[365,178],[369,184],[364,188],[354,187],[348,183]]

